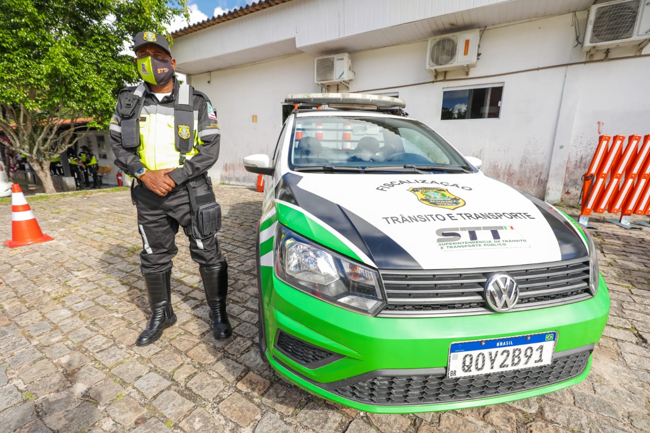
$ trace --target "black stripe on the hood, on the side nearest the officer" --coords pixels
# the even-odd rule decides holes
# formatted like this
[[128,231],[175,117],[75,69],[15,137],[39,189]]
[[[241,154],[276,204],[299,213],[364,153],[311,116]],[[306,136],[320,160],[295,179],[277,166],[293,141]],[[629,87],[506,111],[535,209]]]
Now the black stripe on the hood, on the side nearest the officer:
[[[300,179],[302,176],[297,174],[285,174],[276,187],[278,199],[295,203],[341,233],[363,254],[370,257],[379,269],[422,269],[402,246],[364,218],[337,203],[298,187]],[[287,198],[291,198],[291,201]]]

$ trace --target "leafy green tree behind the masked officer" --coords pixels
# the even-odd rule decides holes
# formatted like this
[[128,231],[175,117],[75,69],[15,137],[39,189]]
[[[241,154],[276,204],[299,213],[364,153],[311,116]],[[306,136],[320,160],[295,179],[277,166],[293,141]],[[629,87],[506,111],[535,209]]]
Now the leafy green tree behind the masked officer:
[[0,1],[0,129],[55,192],[49,161],[92,127],[106,127],[117,94],[138,81],[127,48],[138,31],[166,34],[187,0]]

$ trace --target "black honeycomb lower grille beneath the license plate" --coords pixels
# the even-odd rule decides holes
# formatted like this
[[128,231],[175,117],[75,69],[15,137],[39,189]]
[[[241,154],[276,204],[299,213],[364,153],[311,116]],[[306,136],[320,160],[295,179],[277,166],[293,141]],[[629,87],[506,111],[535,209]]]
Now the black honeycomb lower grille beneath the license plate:
[[[484,399],[548,386],[579,376],[587,367],[588,350],[558,356],[550,365],[465,378],[445,373],[417,376],[374,376],[347,386],[335,394],[357,402],[404,406]],[[567,351],[569,352],[569,351]],[[445,369],[437,369],[444,371]]]

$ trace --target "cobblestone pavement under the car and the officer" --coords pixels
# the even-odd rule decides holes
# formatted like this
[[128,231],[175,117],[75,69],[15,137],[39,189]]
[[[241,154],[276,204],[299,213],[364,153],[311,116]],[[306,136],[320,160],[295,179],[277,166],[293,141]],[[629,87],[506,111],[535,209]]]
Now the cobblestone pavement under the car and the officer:
[[[172,273],[178,322],[146,347],[133,344],[148,306],[129,192],[28,197],[55,240],[0,245],[0,433],[650,431],[650,229],[591,218],[612,310],[587,380],[497,406],[376,415],[309,395],[261,361],[254,258],[261,194],[216,192],[235,334],[217,343],[209,332],[198,267],[181,233]],[[3,203],[0,241],[11,239],[11,206]]]

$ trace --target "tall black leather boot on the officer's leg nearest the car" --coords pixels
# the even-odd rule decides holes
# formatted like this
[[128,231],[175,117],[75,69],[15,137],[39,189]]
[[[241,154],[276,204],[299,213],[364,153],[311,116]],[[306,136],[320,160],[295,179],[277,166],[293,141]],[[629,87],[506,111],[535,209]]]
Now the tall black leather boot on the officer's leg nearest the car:
[[213,267],[200,268],[203,278],[205,299],[210,308],[212,334],[216,339],[227,338],[233,334],[233,328],[226,314],[226,295],[228,293],[228,265],[222,261]]

